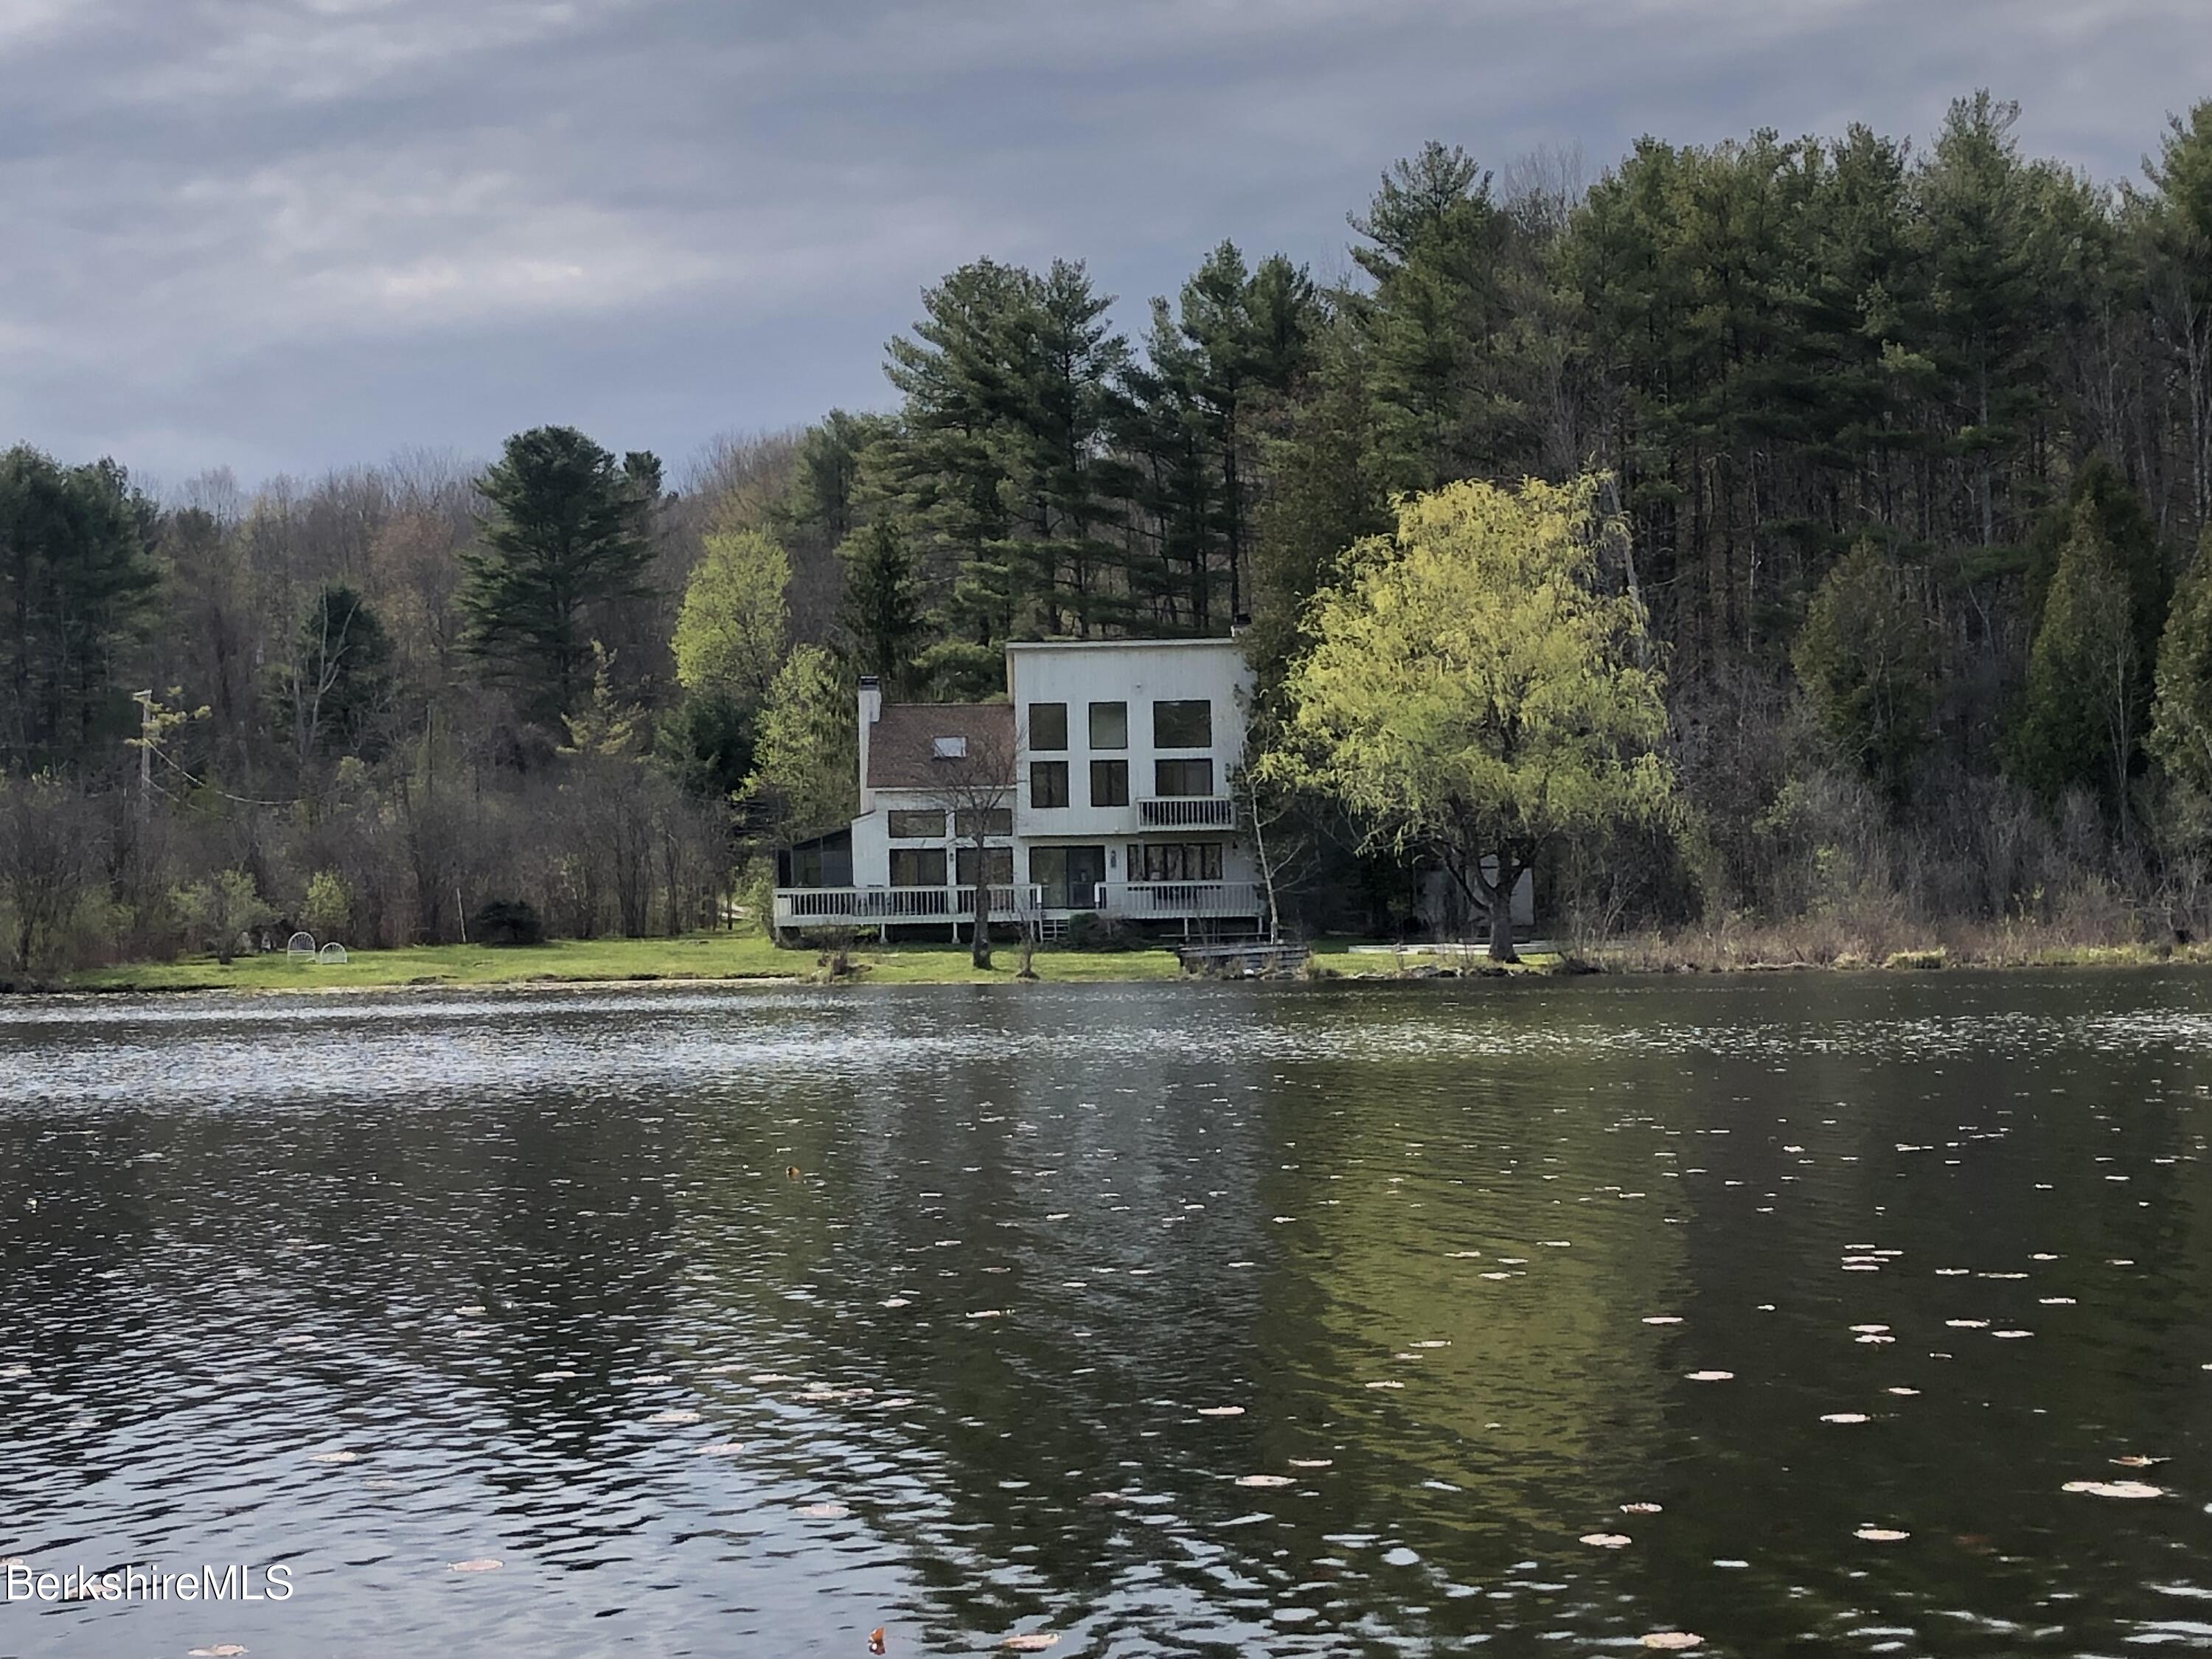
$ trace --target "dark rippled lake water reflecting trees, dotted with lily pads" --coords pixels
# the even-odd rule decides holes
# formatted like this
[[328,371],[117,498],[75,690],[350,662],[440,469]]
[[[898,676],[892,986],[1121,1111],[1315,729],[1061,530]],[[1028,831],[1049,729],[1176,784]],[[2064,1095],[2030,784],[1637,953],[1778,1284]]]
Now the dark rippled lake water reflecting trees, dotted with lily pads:
[[0,1557],[296,1593],[0,1652],[2212,1648],[2208,1091],[2183,973],[7,1002]]

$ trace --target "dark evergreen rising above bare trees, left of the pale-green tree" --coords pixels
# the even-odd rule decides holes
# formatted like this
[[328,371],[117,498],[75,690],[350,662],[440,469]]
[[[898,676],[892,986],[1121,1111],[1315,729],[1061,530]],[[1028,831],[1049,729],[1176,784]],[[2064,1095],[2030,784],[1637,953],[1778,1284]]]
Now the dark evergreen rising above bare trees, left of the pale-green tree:
[[460,555],[465,644],[526,714],[557,726],[591,695],[588,613],[644,593],[659,462],[617,465],[575,427],[533,427],[476,487],[491,511]]

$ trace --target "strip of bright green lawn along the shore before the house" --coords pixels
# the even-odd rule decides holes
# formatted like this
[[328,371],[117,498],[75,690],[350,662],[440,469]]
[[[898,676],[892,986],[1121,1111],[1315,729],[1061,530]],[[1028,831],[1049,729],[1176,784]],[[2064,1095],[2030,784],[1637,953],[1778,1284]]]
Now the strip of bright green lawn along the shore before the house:
[[[856,947],[863,984],[1006,984],[1020,964],[1000,945],[989,973],[969,967],[964,945]],[[1179,967],[1170,951],[1040,949],[1040,980],[1170,980]],[[526,949],[480,945],[418,945],[403,951],[354,951],[336,962],[294,962],[283,953],[217,962],[192,956],[177,962],[128,962],[71,978],[73,991],[361,991],[394,984],[533,984],[580,980],[803,980],[816,975],[816,953],[779,951],[745,933],[690,933],[686,938],[557,940]]]

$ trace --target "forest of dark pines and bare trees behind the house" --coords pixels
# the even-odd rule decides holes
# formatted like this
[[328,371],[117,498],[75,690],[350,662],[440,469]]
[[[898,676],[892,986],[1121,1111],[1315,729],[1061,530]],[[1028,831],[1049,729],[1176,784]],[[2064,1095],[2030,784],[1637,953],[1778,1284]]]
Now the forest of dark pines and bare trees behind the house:
[[[852,681],[1225,635],[1290,710],[1347,549],[1462,480],[1595,478],[1674,810],[1537,852],[1573,938],[2212,927],[2212,102],[2137,177],[1955,102],[1896,139],[1429,144],[1352,276],[1206,252],[1141,327],[980,259],[880,411],[681,471],[538,427],[254,491],[0,453],[0,978],[239,947],[739,925],[852,794]],[[1079,252],[1079,250],[1071,250]],[[602,447],[606,440],[611,447]],[[1405,858],[1276,807],[1307,929]]]

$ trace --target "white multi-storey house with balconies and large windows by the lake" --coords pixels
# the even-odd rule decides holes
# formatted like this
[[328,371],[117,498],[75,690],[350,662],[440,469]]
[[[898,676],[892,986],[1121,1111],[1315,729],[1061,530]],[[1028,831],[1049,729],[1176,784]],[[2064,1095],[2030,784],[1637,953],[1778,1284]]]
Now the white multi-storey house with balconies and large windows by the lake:
[[1006,646],[1004,703],[885,703],[863,679],[860,816],[781,856],[776,931],[960,933],[978,880],[993,922],[1046,933],[1263,927],[1232,787],[1250,690],[1232,639]]

